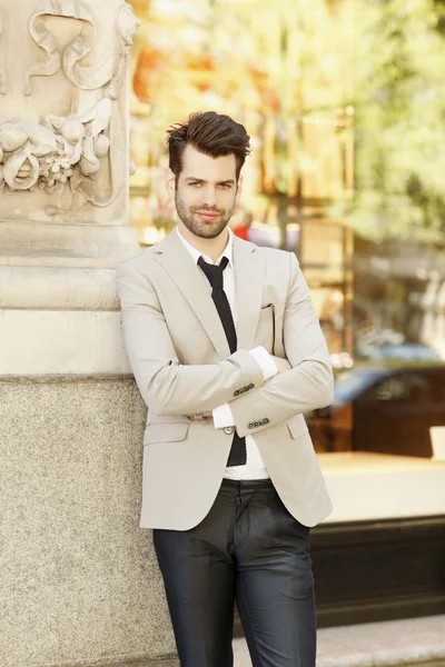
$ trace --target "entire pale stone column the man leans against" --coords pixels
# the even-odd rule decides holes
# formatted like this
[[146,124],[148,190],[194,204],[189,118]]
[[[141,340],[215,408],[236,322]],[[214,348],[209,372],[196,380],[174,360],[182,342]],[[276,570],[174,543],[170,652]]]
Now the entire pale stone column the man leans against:
[[120,334],[123,0],[0,0],[0,664],[172,664]]

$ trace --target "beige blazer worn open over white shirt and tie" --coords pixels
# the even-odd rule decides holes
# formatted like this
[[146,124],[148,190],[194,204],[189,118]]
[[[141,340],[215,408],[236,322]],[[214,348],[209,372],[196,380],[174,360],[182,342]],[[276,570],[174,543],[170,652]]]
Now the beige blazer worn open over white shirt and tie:
[[[209,511],[233,435],[187,415],[229,402],[287,509],[315,526],[332,504],[301,412],[333,399],[326,342],[295,255],[234,238],[238,350],[230,355],[206,279],[177,233],[118,268],[126,348],[148,406],[140,526],[187,530]],[[291,369],[266,382],[248,352]]]

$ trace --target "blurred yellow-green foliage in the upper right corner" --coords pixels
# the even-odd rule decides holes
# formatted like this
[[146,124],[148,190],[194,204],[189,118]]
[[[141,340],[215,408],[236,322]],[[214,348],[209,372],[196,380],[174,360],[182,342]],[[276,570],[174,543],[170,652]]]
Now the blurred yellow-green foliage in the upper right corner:
[[445,2],[352,0],[357,231],[441,241],[445,229]]

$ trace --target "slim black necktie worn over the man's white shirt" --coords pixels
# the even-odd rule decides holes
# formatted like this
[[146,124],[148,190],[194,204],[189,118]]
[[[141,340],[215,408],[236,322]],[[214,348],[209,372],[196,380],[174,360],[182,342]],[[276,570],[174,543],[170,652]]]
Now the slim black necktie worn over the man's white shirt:
[[[229,344],[230,352],[233,354],[236,352],[237,349],[237,335],[234,317],[230,310],[230,303],[226,292],[224,291],[222,276],[222,271],[227,267],[228,262],[229,260],[227,257],[222,257],[219,266],[209,265],[204,260],[202,257],[198,259],[199,267],[202,269],[211,285],[211,298],[214,299],[214,303],[218,310],[219,318],[226,332],[227,342]],[[246,438],[240,438],[235,431],[227,466],[244,466],[246,460]]]

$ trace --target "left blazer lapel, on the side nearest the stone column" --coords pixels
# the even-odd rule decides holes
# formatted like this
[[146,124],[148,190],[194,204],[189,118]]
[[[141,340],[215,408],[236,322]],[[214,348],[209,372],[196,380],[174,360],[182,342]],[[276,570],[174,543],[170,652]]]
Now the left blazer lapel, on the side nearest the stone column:
[[221,359],[230,355],[221,320],[206,280],[176,231],[156,246],[156,257],[198,317]]

